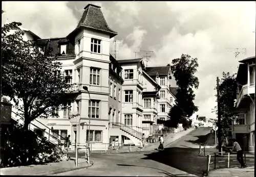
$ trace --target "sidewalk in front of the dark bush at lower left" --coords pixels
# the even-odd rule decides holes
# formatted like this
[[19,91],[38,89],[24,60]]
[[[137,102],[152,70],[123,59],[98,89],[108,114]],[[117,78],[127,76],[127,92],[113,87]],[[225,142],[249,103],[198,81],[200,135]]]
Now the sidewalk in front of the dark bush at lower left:
[[92,162],[89,165],[86,159],[79,158],[78,167],[75,167],[75,159],[71,158],[69,161],[61,161],[43,165],[1,168],[0,171],[1,175],[51,175],[81,168],[88,168],[92,165]]

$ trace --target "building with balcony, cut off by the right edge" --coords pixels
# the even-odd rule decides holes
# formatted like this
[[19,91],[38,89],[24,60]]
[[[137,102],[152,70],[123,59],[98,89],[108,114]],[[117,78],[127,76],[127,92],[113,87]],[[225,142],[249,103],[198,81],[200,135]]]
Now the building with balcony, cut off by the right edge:
[[240,61],[237,82],[236,119],[232,125],[232,137],[244,151],[254,151],[255,139],[255,56]]

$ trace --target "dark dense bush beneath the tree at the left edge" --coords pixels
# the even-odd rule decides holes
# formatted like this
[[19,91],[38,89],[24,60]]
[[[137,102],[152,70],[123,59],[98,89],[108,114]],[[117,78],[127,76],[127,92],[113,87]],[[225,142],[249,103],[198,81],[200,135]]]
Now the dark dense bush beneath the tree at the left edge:
[[2,130],[1,137],[9,137],[8,148],[1,148],[1,167],[58,162],[63,152],[46,137],[24,130],[14,122],[9,130]]

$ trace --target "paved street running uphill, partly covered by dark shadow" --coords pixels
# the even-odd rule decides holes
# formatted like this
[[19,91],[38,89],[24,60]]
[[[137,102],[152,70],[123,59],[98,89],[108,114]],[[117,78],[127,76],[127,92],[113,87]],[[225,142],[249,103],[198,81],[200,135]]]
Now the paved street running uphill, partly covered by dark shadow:
[[58,175],[201,176],[206,158],[197,156],[199,146],[194,143],[198,143],[196,136],[206,135],[209,130],[196,129],[168,145],[166,151],[92,154],[92,167]]

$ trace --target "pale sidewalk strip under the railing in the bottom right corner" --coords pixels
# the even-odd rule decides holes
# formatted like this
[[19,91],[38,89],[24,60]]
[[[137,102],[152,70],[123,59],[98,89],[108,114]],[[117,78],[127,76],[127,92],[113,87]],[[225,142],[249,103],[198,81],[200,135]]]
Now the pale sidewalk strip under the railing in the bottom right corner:
[[208,177],[253,177],[254,166],[246,168],[222,168],[209,171]]

